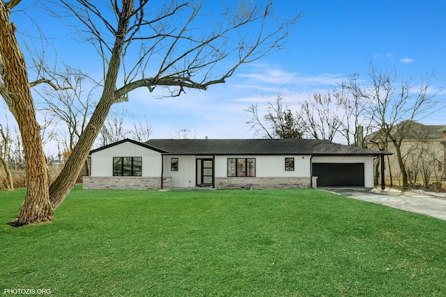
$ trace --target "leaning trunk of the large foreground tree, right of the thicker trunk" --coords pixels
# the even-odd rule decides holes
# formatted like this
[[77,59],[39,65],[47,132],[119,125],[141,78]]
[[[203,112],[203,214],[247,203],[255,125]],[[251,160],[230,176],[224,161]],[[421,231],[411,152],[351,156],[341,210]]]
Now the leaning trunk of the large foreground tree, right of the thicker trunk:
[[107,70],[107,77],[105,78],[104,90],[102,96],[96,106],[89,124],[79,137],[79,141],[75,148],[72,150],[72,154],[68,158],[65,166],[56,180],[49,188],[49,198],[54,206],[58,207],[59,204],[65,200],[68,193],[70,193],[79,173],[82,170],[84,162],[89,156],[89,152],[95,139],[98,137],[101,127],[107,118],[107,115],[115,101],[115,89],[116,79],[118,78],[119,67],[121,65],[121,57],[123,51],[123,44],[125,35],[128,32],[128,25],[130,21],[130,14],[134,6],[133,0],[123,1],[123,8],[118,22],[118,31],[116,32],[116,40],[112,51],[112,57]]

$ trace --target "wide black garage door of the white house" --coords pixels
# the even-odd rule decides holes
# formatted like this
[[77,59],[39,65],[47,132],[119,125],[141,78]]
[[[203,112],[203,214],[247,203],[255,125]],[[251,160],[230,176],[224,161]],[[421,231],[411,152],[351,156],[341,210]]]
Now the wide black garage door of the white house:
[[313,163],[317,186],[364,186],[364,163]]

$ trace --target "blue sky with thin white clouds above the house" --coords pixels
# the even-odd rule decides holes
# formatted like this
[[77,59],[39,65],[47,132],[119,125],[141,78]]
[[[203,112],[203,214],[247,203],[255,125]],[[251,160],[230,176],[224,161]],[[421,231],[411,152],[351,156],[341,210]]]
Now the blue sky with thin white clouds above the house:
[[[215,1],[215,10],[223,2]],[[348,74],[366,74],[367,61],[413,77],[415,84],[431,70],[446,78],[446,1],[282,0],[277,4],[283,13],[302,14],[282,51],[240,67],[224,85],[207,91],[186,90],[180,97],[156,99],[146,90],[135,90],[129,102],[113,109],[145,117],[153,129],[151,138],[169,138],[181,129],[197,138],[252,138],[254,132],[246,124],[249,105],[264,109],[281,95],[298,108],[298,102],[316,92],[326,93]],[[33,15],[32,7],[28,11]],[[30,19],[24,13],[13,14],[12,19],[20,32],[26,32],[23,28]],[[54,19],[42,15],[33,19],[54,37],[54,48],[65,63],[97,71],[89,69],[89,57],[95,55],[89,45],[76,43],[60,24],[53,25]],[[432,83],[445,88],[445,81]],[[438,99],[446,102],[446,93]],[[446,125],[445,115],[444,109],[439,110],[423,122]]]

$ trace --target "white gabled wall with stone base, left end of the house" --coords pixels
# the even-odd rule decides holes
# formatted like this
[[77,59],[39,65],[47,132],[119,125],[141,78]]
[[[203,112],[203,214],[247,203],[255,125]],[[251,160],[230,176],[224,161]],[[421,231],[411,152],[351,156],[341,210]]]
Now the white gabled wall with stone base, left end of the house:
[[[114,156],[140,156],[141,177],[114,177]],[[161,187],[161,168],[160,152],[130,142],[120,143],[92,154],[91,176],[84,177],[84,188],[157,189]],[[164,188],[169,183],[169,178],[164,179]]]

